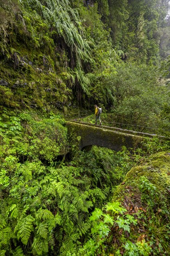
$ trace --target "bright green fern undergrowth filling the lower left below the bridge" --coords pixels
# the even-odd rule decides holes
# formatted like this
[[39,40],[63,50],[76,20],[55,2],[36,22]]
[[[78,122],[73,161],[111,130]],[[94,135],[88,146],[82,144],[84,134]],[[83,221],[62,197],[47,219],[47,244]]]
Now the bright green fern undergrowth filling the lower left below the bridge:
[[69,159],[69,148],[61,114],[3,111],[1,255],[76,253],[90,229],[90,213],[111,199],[131,168],[124,152],[94,147]]

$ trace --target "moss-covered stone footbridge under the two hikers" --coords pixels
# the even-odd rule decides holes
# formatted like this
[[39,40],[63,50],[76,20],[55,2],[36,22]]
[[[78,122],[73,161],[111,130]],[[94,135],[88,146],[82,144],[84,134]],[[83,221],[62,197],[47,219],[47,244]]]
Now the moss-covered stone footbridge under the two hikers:
[[144,137],[154,137],[155,134],[148,134],[121,128],[99,126],[79,121],[66,122],[68,133],[72,137],[80,136],[79,148],[90,150],[92,145],[111,148],[119,151],[122,146],[126,148],[139,148]]

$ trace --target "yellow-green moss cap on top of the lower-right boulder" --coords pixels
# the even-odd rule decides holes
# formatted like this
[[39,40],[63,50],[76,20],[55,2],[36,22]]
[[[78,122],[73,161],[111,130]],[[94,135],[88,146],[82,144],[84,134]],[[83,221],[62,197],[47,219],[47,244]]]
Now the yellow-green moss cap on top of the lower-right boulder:
[[145,176],[159,191],[167,193],[167,187],[170,186],[170,153],[160,152],[151,155],[145,165],[131,168],[124,182],[118,186],[113,200],[124,200],[124,195],[128,192],[132,199],[134,191],[140,197],[138,184],[142,176]]

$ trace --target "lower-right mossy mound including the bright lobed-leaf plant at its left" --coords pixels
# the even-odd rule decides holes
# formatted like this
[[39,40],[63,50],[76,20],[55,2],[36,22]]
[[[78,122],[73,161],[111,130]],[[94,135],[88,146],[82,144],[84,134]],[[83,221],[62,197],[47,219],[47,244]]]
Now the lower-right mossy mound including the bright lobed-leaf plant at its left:
[[[108,234],[102,238],[93,236],[94,242],[88,241],[86,248],[97,244],[94,255],[170,255],[169,152],[151,155],[144,165],[131,168],[115,190],[112,201],[103,208],[106,211],[99,220],[96,216],[102,211],[95,209],[92,213],[92,232],[97,230],[95,225],[107,225]],[[118,208],[120,205],[123,208]],[[109,224],[106,216],[112,220]],[[103,243],[105,254],[98,249]]]

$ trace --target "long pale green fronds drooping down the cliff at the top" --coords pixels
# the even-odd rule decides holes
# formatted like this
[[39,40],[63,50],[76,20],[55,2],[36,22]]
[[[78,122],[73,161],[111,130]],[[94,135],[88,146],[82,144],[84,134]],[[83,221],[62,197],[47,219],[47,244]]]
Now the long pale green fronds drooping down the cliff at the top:
[[79,22],[77,10],[70,7],[69,1],[47,0],[45,6],[39,0],[21,0],[21,3],[25,7],[35,8],[48,23],[55,24],[58,34],[71,47],[72,52],[77,47],[81,49],[81,54],[77,52],[77,60],[89,59],[91,48],[87,42],[84,44],[84,29]]

